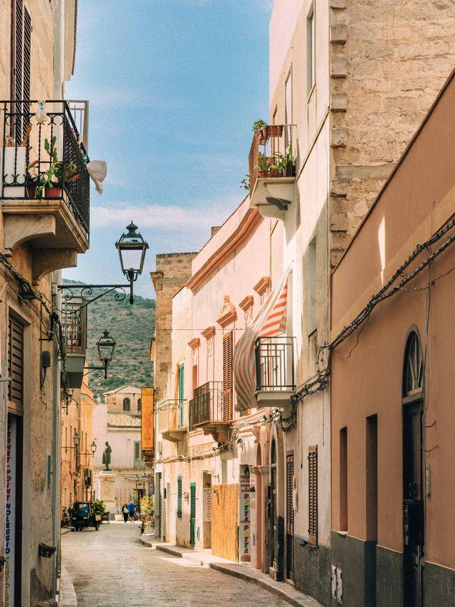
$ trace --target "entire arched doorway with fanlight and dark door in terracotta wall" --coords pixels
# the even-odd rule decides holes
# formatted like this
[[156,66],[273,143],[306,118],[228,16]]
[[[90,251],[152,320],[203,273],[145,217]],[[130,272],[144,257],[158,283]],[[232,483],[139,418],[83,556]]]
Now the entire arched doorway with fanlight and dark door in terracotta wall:
[[425,524],[423,496],[423,356],[410,331],[402,375],[403,604],[423,605]]

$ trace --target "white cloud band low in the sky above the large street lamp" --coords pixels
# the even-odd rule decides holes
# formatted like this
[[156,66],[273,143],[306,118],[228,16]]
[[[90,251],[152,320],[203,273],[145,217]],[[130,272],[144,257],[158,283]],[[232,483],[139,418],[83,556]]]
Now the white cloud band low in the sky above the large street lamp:
[[90,223],[93,228],[104,228],[134,221],[142,228],[162,228],[172,232],[181,230],[206,230],[211,225],[221,225],[241,201],[204,200],[188,207],[165,204],[148,204],[139,207],[129,202],[111,202],[109,207],[92,207]]

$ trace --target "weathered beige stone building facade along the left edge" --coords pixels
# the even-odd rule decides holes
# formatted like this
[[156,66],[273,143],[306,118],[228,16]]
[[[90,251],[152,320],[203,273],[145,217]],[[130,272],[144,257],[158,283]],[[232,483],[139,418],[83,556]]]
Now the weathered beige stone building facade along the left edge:
[[[25,189],[25,151],[38,153],[41,128],[38,104],[30,100],[63,99],[64,82],[73,73],[76,4],[0,3],[0,97],[8,100],[0,107],[0,477],[6,479],[0,484],[5,530],[0,556],[6,559],[0,603],[10,606],[52,601],[57,584],[63,338],[52,315],[60,308],[52,282],[59,282],[59,269],[76,265],[77,253],[88,249],[88,226],[76,219],[63,195],[43,200]],[[12,118],[19,100],[25,101],[19,104],[21,116]],[[48,104],[45,112],[65,113],[62,107]],[[42,129],[48,137],[45,118]],[[62,153],[62,129],[55,134]],[[8,178],[11,158],[19,159],[17,185],[7,185],[14,183]]]

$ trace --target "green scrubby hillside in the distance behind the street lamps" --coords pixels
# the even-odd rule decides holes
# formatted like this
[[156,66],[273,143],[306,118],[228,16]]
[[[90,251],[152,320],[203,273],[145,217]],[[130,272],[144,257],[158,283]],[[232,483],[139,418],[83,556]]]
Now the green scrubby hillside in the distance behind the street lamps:
[[[76,284],[77,281],[63,282]],[[98,293],[100,291],[102,289],[97,289]],[[104,379],[102,371],[90,372],[89,386],[95,398],[125,384],[137,388],[153,386],[153,365],[149,356],[151,337],[155,333],[155,300],[139,295],[134,295],[133,305],[128,300],[129,294],[123,302],[116,302],[113,294],[109,293],[87,307],[86,364],[101,364],[97,341],[105,328],[117,342],[108,378]]]

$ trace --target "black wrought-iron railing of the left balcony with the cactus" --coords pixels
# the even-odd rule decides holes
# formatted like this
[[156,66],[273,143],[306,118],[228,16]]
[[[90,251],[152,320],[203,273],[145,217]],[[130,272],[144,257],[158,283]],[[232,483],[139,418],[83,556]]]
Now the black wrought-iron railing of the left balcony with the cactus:
[[71,103],[0,102],[0,197],[62,199],[88,239],[90,178],[85,165],[89,159],[83,144],[87,105]]

